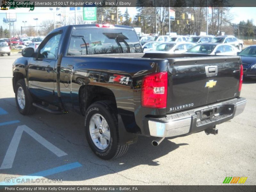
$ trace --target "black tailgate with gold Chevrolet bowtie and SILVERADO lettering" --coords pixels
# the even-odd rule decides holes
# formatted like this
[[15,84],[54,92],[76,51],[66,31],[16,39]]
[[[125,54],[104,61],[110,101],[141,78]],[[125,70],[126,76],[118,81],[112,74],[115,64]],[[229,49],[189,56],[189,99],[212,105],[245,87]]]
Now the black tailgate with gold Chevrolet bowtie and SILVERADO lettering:
[[240,57],[168,59],[167,113],[239,96]]

